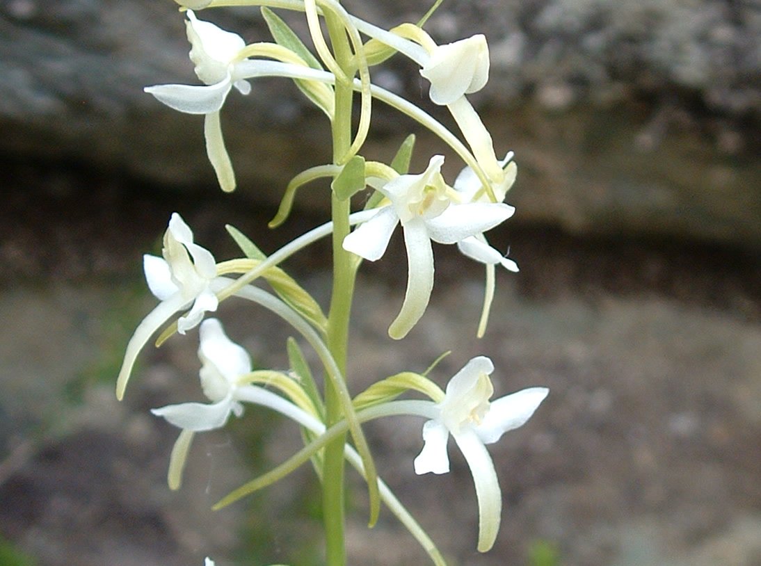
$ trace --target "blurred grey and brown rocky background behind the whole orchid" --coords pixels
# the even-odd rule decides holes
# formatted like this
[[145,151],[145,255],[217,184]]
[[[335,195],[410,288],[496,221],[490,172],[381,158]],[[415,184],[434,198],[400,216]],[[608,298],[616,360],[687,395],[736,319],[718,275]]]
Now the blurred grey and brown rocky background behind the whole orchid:
[[[345,6],[384,25],[427,9]],[[282,15],[304,32],[299,14]],[[201,17],[269,40],[256,9]],[[489,40],[490,81],[472,100],[519,170],[517,213],[489,239],[521,272],[498,274],[477,340],[482,269],[438,247],[431,306],[392,342],[405,278],[393,240],[361,270],[351,389],[452,349],[433,375],[442,385],[484,354],[495,395],[551,393],[492,447],[504,514],[489,554],[475,550],[457,450],[450,474],[414,475],[420,421],[368,425],[381,475],[451,564],[761,564],[761,3],[446,0],[427,29],[438,43]],[[167,488],[177,431],[148,409],[202,399],[197,335],[146,351],[125,402],[113,397],[126,341],[155,304],[142,254],[160,253],[171,212],[217,259],[237,253],[224,224],[271,252],[328,214],[327,187],[314,186],[266,229],[291,176],[330,160],[322,116],[284,81],[231,94],[239,189],[220,194],[202,120],[142,92],[195,84],[188,50],[169,0],[0,0],[0,566],[320,564],[307,467],[209,510],[298,449],[288,422],[249,409],[199,435],[183,488]],[[373,76],[425,106],[427,83],[401,59]],[[388,160],[416,126],[373,111],[363,153]],[[418,133],[412,170],[447,153]],[[446,167],[451,181],[460,164]],[[324,300],[329,265],[317,245],[286,267]],[[220,316],[256,363],[285,367],[287,329],[239,304]],[[350,563],[425,564],[390,515],[366,528],[351,483]]]

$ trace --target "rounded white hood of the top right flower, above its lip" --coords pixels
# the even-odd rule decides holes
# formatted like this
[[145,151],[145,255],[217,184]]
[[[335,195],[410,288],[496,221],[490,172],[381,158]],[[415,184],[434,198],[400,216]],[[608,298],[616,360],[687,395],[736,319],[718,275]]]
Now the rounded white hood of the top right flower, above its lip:
[[489,80],[486,37],[479,34],[437,46],[420,74],[431,81],[431,101],[441,106],[480,91]]

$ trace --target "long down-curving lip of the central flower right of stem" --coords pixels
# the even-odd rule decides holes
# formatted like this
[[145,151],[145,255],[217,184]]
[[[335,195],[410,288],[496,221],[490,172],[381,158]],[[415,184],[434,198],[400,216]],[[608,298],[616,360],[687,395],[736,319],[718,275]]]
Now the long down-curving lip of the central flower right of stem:
[[404,226],[407,248],[407,291],[402,309],[391,323],[388,335],[402,339],[415,326],[428,307],[433,289],[433,250],[422,218],[413,218]]

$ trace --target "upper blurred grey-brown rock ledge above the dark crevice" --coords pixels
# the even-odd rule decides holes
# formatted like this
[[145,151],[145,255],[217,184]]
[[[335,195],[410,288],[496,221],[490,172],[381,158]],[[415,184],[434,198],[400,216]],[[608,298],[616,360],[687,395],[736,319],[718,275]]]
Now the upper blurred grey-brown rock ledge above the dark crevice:
[[[421,10],[417,2],[346,5],[379,24]],[[0,125],[11,132],[0,149],[167,186],[213,186],[199,117],[142,93],[147,84],[196,83],[176,8],[169,0],[0,3]],[[250,41],[269,37],[255,9],[203,17]],[[452,0],[428,30],[440,43],[482,30],[489,38],[491,81],[473,100],[498,151],[515,149],[523,166],[518,218],[584,233],[761,244],[757,4]],[[403,61],[376,77],[422,103],[425,84]],[[398,129],[411,126],[380,104],[375,112],[365,152],[387,159]],[[324,120],[282,81],[231,96],[223,119],[239,184],[253,199],[276,202],[298,170],[330,159]],[[425,139],[420,146],[420,163],[444,150]]]

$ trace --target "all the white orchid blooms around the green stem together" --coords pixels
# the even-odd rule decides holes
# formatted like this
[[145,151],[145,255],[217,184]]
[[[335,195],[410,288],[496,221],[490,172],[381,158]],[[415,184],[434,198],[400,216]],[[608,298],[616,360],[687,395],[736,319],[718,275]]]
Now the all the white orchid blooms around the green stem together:
[[[177,0],[177,3],[186,8],[202,9],[212,4],[212,0]],[[213,4],[221,5],[224,2],[215,0]],[[278,2],[274,2],[272,5],[277,4]],[[293,2],[286,4],[293,8]],[[314,0],[304,2],[307,16],[310,13],[309,5],[316,6]],[[389,334],[394,339],[402,339],[407,335],[428,306],[435,275],[432,242],[456,244],[463,255],[486,264],[487,299],[484,313],[488,313],[495,266],[502,266],[511,272],[517,272],[518,268],[512,259],[508,259],[489,245],[484,236],[487,231],[514,214],[514,208],[505,204],[504,200],[517,171],[511,152],[502,160],[495,157],[492,138],[466,97],[467,94],[482,89],[489,78],[489,49],[486,38],[476,35],[447,45],[437,45],[420,27],[411,24],[403,24],[392,31],[381,30],[358,18],[344,15],[342,8],[333,0],[323,0],[320,8],[323,11],[330,9],[339,14],[347,26],[349,37],[354,37],[352,33],[357,37],[358,33],[363,33],[374,41],[374,46],[382,45],[384,49],[403,53],[417,62],[420,75],[430,82],[431,101],[447,107],[467,145],[470,146],[470,149],[466,148],[456,136],[422,110],[393,93],[368,84],[365,81],[366,62],[365,67],[358,65],[361,79],[353,80],[353,88],[361,91],[363,100],[366,94],[384,100],[428,126],[463,157],[466,167],[450,186],[441,173],[444,164],[442,155],[431,157],[428,167],[419,174],[398,173],[385,166],[375,169],[368,166],[360,189],[362,186],[374,189],[374,206],[367,211],[351,215],[349,223],[356,225],[355,230],[345,237],[342,235],[343,239],[337,241],[342,243],[345,252],[375,261],[384,256],[393,231],[401,224],[406,246],[408,279],[403,305],[389,328]],[[235,188],[236,182],[230,158],[224,147],[220,122],[220,111],[228,94],[233,89],[240,94],[249,94],[252,89],[250,79],[278,76],[294,79],[307,96],[324,101],[324,97],[320,98],[324,89],[333,88],[339,82],[339,77],[337,71],[325,71],[310,65],[298,49],[285,49],[280,45],[263,43],[247,45],[236,33],[200,20],[192,9],[188,9],[186,14],[186,33],[191,44],[189,56],[195,65],[196,75],[203,84],[164,84],[146,87],[145,91],[174,110],[205,116],[205,140],[209,160],[221,188],[229,191]],[[316,7],[314,14],[317,14]],[[319,52],[319,42],[316,40],[315,43]],[[262,58],[262,54],[265,53],[267,59]],[[355,53],[357,56],[358,54]],[[335,65],[335,61],[329,57],[323,56],[323,61],[329,69]],[[345,81],[345,77],[340,80]],[[333,112],[330,103],[325,102],[322,108],[330,117]],[[342,173],[342,167],[343,165],[336,164],[324,169],[337,179]],[[248,259],[218,264],[209,250],[194,242],[193,232],[180,215],[175,213],[171,216],[164,234],[162,256],[145,256],[145,278],[148,287],[160,303],[135,330],[127,346],[123,367],[119,373],[117,396],[123,396],[135,358],[151,335],[182,311],[183,314],[177,317],[176,321],[177,332],[185,334],[199,326],[199,377],[202,391],[209,399],[208,403],[183,402],[153,410],[154,415],[165,418],[172,425],[182,429],[171,456],[171,487],[180,486],[183,464],[193,435],[224,427],[231,415],[240,417],[243,414],[245,404],[266,406],[288,416],[310,431],[310,434],[317,438],[314,442],[319,442],[322,436],[334,434],[336,427],[342,426],[339,423],[333,425],[333,428],[327,427],[320,411],[316,409],[318,403],[310,401],[307,393],[299,393],[298,387],[301,385],[288,385],[291,381],[285,374],[280,376],[284,380],[282,383],[285,383],[281,391],[269,390],[257,384],[260,383],[260,374],[253,370],[247,351],[228,338],[219,320],[204,320],[206,313],[217,310],[220,300],[231,295],[248,298],[265,306],[269,305],[268,308],[273,312],[280,313],[291,326],[299,329],[313,346],[316,345],[319,354],[322,351],[320,348],[323,348],[319,332],[304,321],[293,322],[291,317],[293,315],[298,318],[298,308],[293,307],[293,304],[298,304],[301,300],[299,297],[303,295],[298,294],[301,290],[295,290],[290,279],[280,275],[279,271],[272,270],[279,269],[276,264],[282,259],[303,249],[317,237],[330,234],[332,230],[332,223],[318,227],[294,240],[269,259],[254,261],[249,255]],[[223,265],[224,269],[221,267]],[[226,276],[236,272],[236,269],[238,273],[244,274],[240,279]],[[281,294],[283,300],[250,286],[251,281],[264,275],[267,269],[279,285],[277,287],[270,281],[272,288]],[[485,320],[486,314],[482,315],[482,326],[485,325]],[[303,329],[302,326],[307,328]],[[170,327],[171,329],[173,327]],[[164,338],[166,335],[167,332],[164,332]],[[328,351],[328,348],[324,347],[324,350]],[[334,366],[335,364],[327,363],[326,374],[335,374],[336,371],[331,369]],[[449,471],[447,442],[450,436],[454,438],[470,466],[476,486],[479,504],[478,549],[482,552],[494,544],[501,516],[501,492],[495,466],[486,445],[495,443],[506,431],[524,425],[548,393],[544,387],[532,387],[492,401],[490,399],[494,387],[490,376],[493,371],[492,361],[479,356],[471,359],[451,378],[445,391],[431,386],[431,391],[434,391],[429,395],[431,399],[397,401],[393,399],[394,395],[369,409],[360,406],[355,414],[349,405],[349,412],[357,422],[361,419],[402,414],[425,418],[422,425],[422,450],[412,463],[412,469],[419,475]],[[278,376],[275,377],[279,379]],[[417,390],[425,390],[425,383],[429,383],[427,377],[417,376],[414,379],[417,380],[416,383],[424,385]],[[288,387],[296,387],[296,393]],[[416,387],[410,386],[409,389]],[[284,392],[290,393],[282,394]],[[345,395],[345,402],[352,403],[348,394]],[[346,427],[351,426],[349,416],[348,413],[345,415],[343,425]],[[357,437],[356,451],[354,447],[346,445],[346,457],[365,473],[368,470],[363,467],[365,460],[358,456],[360,447],[356,440]],[[405,511],[403,508],[400,510],[393,494],[387,491],[382,482],[379,482],[379,485],[384,501],[405,524],[413,524],[406,522]],[[410,528],[413,529],[414,525]],[[213,566],[213,562],[206,558],[206,565]]]

